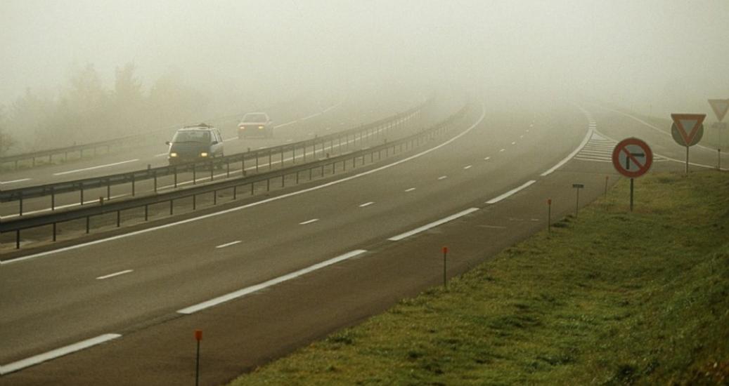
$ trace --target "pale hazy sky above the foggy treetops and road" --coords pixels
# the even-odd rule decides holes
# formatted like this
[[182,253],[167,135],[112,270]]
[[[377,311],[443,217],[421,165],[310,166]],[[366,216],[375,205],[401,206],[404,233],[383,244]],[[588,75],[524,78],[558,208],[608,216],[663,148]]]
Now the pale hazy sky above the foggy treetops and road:
[[58,94],[86,63],[111,87],[127,62],[147,86],[174,70],[207,92],[402,82],[638,107],[729,98],[728,0],[0,0],[0,25],[5,104],[26,87]]

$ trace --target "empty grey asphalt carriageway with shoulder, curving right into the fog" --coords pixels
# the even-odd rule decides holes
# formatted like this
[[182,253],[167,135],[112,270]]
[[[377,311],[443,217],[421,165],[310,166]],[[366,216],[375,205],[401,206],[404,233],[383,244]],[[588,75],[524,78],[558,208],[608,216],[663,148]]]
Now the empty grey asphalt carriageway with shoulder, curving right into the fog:
[[663,156],[653,170],[683,168],[670,136],[610,111],[474,110],[406,157],[3,261],[0,384],[193,382],[200,328],[201,383],[216,385],[437,285],[444,245],[457,275],[546,227],[547,198],[554,219],[573,213],[572,184],[586,203],[617,181],[605,154],[626,133]]

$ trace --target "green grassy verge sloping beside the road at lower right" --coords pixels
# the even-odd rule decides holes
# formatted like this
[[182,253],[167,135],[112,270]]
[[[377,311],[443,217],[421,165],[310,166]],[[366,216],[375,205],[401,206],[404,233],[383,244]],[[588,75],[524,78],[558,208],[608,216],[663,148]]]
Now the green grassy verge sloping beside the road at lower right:
[[[729,175],[627,180],[449,282],[230,385],[729,382]],[[647,198],[650,197],[650,198]]]

